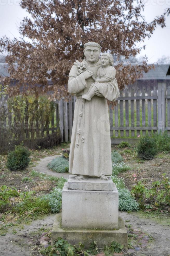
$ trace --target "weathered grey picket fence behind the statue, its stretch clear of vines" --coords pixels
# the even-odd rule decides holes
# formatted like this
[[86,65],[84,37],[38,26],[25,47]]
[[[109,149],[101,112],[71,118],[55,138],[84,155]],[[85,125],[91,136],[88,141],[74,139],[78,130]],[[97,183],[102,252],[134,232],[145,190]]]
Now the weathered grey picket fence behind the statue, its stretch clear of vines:
[[[56,119],[64,141],[70,141],[76,97],[69,102],[60,100],[56,107]],[[109,106],[110,135],[114,138],[137,138],[156,131],[168,131],[170,135],[170,86],[158,83],[151,88],[128,86],[120,92],[114,109]]]

